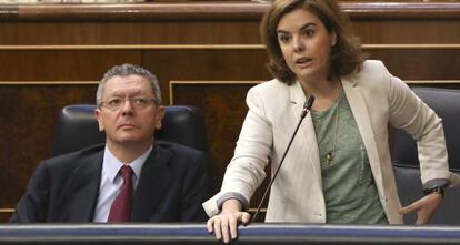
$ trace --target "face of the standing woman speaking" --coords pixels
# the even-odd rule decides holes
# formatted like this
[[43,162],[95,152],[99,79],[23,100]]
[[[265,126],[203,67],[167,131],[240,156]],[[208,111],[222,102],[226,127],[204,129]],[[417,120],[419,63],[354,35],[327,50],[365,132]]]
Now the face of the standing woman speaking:
[[327,79],[337,38],[317,16],[296,9],[280,19],[277,33],[286,63],[300,81]]

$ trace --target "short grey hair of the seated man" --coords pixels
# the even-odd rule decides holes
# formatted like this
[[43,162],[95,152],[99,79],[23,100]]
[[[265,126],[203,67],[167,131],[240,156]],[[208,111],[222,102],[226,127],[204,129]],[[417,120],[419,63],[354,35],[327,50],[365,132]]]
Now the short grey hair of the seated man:
[[103,74],[102,80],[99,82],[98,85],[98,92],[96,93],[96,103],[100,104],[102,102],[102,94],[108,80],[110,80],[113,76],[124,78],[129,75],[139,75],[147,79],[147,81],[149,81],[150,83],[150,86],[152,88],[152,92],[154,99],[157,100],[157,103],[161,104],[160,82],[158,81],[157,76],[142,67],[129,63],[114,65],[111,69],[109,69],[106,72],[106,74]]

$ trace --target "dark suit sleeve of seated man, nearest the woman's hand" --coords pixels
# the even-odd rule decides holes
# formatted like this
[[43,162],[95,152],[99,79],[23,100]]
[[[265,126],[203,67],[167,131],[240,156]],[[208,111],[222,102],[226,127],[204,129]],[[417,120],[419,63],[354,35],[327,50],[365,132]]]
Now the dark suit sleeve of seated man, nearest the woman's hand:
[[201,206],[209,197],[209,171],[204,153],[199,152],[188,164],[182,190],[181,222],[203,222],[207,220]]

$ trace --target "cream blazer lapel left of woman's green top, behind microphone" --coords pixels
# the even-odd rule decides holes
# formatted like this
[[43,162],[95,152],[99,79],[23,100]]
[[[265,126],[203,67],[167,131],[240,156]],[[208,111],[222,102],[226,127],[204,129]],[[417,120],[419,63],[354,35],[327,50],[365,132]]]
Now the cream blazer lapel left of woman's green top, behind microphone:
[[[296,122],[294,126],[299,123],[300,114],[303,110],[303,104],[307,100],[306,94],[303,93],[303,90],[299,82],[296,82],[290,88],[290,94],[291,94],[291,103],[292,103],[292,110],[293,114],[296,115]],[[291,135],[289,135],[291,136]],[[301,123],[298,135],[294,139],[294,142],[300,142],[301,151],[291,152],[289,154],[298,154],[296,159],[298,160],[304,160],[304,161],[294,161],[298,164],[304,164],[306,162],[310,162],[314,178],[318,183],[322,183],[321,181],[321,166],[320,166],[320,160],[319,160],[319,150],[318,150],[318,143],[317,143],[317,136],[314,134],[314,126],[313,121],[311,120],[311,114],[308,113],[307,116],[303,119],[303,122]],[[297,170],[301,170],[302,167],[298,167]]]

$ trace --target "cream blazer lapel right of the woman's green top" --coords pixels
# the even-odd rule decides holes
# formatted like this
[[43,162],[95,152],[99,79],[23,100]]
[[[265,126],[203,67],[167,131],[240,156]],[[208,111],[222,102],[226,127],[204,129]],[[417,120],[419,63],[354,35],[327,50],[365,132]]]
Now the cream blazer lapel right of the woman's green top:
[[354,119],[358,124],[359,132],[361,134],[362,141],[366,146],[366,151],[369,156],[369,163],[373,173],[373,177],[379,188],[379,193],[384,193],[383,181],[381,174],[381,166],[379,160],[379,153],[377,151],[376,139],[372,130],[372,124],[370,121],[370,115],[362,96],[361,89],[356,84],[354,80],[342,80],[343,91],[347,95],[348,102],[350,104],[351,111],[354,115]]

